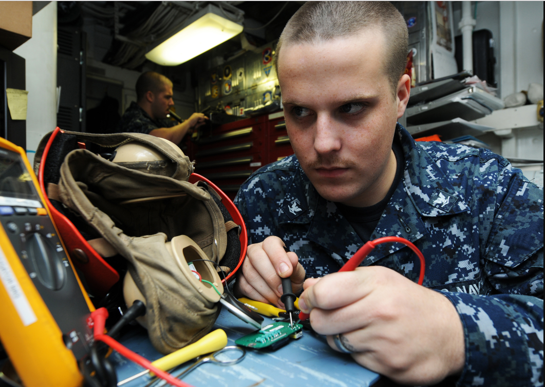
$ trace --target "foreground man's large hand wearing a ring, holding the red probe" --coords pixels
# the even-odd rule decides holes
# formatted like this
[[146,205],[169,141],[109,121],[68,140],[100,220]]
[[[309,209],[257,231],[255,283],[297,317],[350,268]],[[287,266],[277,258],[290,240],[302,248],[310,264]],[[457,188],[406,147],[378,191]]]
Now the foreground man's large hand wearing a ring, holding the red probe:
[[[449,299],[391,269],[371,266],[307,279],[299,307],[312,327],[360,365],[398,383],[428,385],[462,371],[462,322]],[[337,349],[338,350],[338,349]]]

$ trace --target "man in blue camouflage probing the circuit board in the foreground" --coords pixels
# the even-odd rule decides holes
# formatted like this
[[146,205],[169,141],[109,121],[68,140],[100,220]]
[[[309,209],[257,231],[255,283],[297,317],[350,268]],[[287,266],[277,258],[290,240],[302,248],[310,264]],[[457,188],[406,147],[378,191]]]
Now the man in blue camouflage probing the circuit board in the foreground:
[[[236,289],[282,306],[290,277],[332,348],[399,383],[543,385],[543,188],[396,124],[407,36],[387,2],[308,2],[288,22],[276,65],[295,155],[238,193],[251,245]],[[422,251],[423,286],[398,243],[335,273],[382,236]]]

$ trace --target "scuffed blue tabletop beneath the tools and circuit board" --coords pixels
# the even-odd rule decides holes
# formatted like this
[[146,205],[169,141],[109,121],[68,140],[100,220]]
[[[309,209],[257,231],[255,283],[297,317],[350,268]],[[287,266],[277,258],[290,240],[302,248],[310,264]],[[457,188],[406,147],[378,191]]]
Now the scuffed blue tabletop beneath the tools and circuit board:
[[[272,320],[265,317],[265,323]],[[255,331],[249,324],[222,308],[214,329],[225,330],[228,346],[235,345],[235,340]],[[148,339],[147,332],[137,330],[122,337],[120,342],[132,351],[150,361],[162,355],[155,351]],[[143,368],[114,352],[110,359],[116,367],[118,380],[124,380]],[[173,374],[178,374],[195,363],[190,360]],[[246,357],[238,364],[220,366],[206,363],[186,374],[182,379],[195,387],[351,387],[370,386],[376,383],[379,374],[356,364],[347,354],[331,349],[324,336],[303,330],[303,336],[291,340],[276,351],[258,351],[246,348]],[[132,380],[123,387],[143,387],[152,378],[148,375]]]

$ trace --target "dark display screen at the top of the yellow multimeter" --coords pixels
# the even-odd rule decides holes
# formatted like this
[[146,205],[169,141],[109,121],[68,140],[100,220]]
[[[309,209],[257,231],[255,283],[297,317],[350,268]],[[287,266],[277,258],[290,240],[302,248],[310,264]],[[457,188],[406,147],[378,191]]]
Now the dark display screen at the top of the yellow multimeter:
[[0,149],[0,196],[37,199],[31,175],[18,153]]

